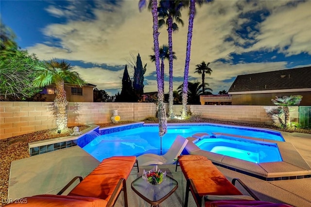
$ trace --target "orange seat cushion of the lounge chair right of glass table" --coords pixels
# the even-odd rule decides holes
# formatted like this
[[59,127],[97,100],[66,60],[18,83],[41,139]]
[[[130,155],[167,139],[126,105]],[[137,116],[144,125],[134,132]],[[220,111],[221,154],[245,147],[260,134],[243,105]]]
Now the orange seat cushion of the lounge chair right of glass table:
[[[188,156],[188,155],[185,155]],[[204,195],[242,195],[210,160],[179,160],[186,179],[191,179],[200,197]]]

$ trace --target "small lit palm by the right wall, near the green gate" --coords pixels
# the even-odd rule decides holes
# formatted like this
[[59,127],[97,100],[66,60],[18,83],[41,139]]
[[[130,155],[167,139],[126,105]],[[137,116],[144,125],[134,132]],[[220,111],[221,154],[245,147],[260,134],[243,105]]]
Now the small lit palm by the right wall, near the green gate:
[[282,106],[284,112],[284,129],[286,129],[290,123],[290,110],[289,106],[298,105],[302,99],[302,95],[291,95],[291,96],[283,96],[277,97],[275,99],[271,99],[271,101],[276,106]]

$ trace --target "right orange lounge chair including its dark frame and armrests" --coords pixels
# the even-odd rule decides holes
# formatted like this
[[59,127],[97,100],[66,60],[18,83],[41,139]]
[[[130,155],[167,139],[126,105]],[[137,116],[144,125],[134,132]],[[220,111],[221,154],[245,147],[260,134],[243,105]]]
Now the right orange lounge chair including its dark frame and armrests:
[[[240,179],[235,178],[231,183],[205,156],[182,155],[178,157],[178,162],[187,180],[184,207],[188,206],[189,192],[191,192],[197,207],[222,207],[225,204],[230,207],[241,207],[242,205],[291,207],[286,204],[259,201],[259,198]],[[243,195],[235,187],[236,181],[251,196]]]

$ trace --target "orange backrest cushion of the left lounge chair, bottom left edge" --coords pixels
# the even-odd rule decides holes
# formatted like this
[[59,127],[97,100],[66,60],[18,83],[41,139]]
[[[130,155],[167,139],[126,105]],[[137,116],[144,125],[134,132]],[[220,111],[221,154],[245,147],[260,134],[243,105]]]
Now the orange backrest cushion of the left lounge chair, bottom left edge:
[[[67,195],[35,195],[20,199],[24,203],[12,203],[6,206],[14,207],[105,207],[107,201],[80,196]],[[26,203],[27,202],[27,203]]]

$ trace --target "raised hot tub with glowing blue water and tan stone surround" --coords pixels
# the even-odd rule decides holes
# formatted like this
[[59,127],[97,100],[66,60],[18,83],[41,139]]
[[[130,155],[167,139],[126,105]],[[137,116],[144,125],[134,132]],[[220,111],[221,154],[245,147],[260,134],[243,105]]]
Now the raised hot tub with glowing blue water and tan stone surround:
[[187,153],[262,180],[311,177],[311,167],[289,142],[221,132],[196,133],[187,139]]

